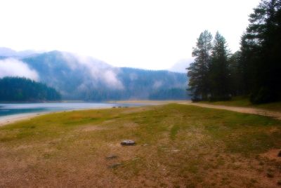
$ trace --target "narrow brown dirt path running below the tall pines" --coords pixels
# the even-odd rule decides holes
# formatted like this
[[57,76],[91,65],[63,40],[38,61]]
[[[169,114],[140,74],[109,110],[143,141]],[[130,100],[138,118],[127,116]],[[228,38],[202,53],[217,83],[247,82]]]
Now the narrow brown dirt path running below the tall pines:
[[233,112],[241,112],[245,114],[257,114],[261,116],[270,116],[275,119],[281,120],[281,112],[273,112],[266,109],[257,109],[257,108],[249,108],[249,107],[228,107],[223,105],[209,105],[209,104],[202,104],[202,103],[194,103],[194,102],[180,102],[179,104],[183,105],[194,105],[197,107],[206,107],[206,108],[213,108],[213,109],[226,109]]

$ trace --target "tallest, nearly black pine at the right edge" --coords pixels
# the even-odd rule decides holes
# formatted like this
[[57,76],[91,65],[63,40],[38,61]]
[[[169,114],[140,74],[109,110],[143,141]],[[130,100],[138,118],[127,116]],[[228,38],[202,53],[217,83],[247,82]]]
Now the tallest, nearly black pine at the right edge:
[[249,21],[242,57],[251,67],[251,102],[281,100],[281,0],[262,0]]

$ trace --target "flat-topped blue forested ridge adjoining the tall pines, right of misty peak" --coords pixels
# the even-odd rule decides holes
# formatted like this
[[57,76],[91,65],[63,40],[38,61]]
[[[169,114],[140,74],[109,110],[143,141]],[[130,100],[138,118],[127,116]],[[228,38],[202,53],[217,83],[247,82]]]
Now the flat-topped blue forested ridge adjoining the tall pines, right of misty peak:
[[[121,68],[117,74],[128,90],[130,98],[141,99],[185,99],[187,98],[185,87],[187,86],[187,77],[185,74],[179,74],[169,71],[152,71],[144,69]],[[183,95],[163,95],[161,90],[171,90],[177,88],[183,91]],[[159,93],[159,95],[155,95]]]

